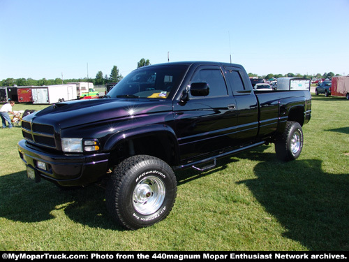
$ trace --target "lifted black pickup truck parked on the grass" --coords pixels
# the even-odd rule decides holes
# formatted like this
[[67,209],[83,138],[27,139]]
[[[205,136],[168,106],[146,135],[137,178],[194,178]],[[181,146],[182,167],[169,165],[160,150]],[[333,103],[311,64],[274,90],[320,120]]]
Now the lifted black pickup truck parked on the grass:
[[254,91],[244,68],[216,62],[144,66],[104,99],[56,103],[24,117],[18,143],[27,175],[60,187],[106,181],[112,216],[129,229],[167,217],[174,170],[275,143],[297,159],[311,118],[309,91]]

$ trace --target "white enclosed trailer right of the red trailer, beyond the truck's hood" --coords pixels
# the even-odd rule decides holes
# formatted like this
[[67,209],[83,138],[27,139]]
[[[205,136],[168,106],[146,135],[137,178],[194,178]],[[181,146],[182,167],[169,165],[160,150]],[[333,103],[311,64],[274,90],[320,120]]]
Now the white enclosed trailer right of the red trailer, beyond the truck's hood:
[[48,85],[32,87],[33,103],[59,103],[76,99],[76,85]]

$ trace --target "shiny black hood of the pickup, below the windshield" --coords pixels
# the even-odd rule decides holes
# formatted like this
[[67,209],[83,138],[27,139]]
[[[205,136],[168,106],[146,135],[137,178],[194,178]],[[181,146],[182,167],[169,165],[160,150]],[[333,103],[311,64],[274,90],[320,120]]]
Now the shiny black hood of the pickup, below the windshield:
[[165,99],[91,99],[57,103],[24,117],[24,120],[65,129],[169,111],[172,111],[172,101]]

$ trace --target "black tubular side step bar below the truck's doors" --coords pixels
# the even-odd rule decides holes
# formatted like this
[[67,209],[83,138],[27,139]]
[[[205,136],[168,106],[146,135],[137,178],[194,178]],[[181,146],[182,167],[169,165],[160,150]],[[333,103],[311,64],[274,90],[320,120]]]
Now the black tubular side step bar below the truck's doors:
[[[214,157],[207,157],[206,159],[194,161],[194,162],[191,162],[191,163],[186,163],[186,164],[181,165],[181,166],[175,166],[174,170],[178,170],[178,169],[182,169],[182,168],[194,168],[196,170],[206,171],[206,170],[209,170],[211,168],[216,167],[216,159],[218,159],[218,158],[227,157],[230,154],[236,154],[236,153],[242,152],[244,150],[248,150],[248,149],[250,149],[252,147],[258,147],[258,145],[263,145],[263,144],[265,144],[265,141],[255,143],[253,145],[248,145],[246,147],[241,147],[241,148],[238,148],[237,150],[232,150],[232,151],[224,152],[224,153],[221,153],[221,154],[217,154]],[[209,161],[214,161],[214,163],[212,165],[204,166],[202,168],[198,168],[197,167],[198,165],[200,165],[202,163],[207,163]]]

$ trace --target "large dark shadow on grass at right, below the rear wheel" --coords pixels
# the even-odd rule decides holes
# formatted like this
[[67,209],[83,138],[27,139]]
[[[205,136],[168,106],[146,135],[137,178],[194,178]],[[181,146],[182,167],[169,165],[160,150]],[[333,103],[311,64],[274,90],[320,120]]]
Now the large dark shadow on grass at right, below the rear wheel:
[[258,178],[238,184],[279,221],[285,237],[310,250],[349,249],[349,174],[325,173],[317,159],[282,163],[258,152],[238,157],[262,161],[254,168]]

